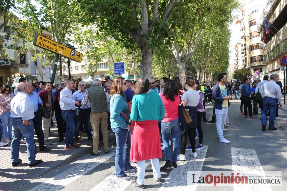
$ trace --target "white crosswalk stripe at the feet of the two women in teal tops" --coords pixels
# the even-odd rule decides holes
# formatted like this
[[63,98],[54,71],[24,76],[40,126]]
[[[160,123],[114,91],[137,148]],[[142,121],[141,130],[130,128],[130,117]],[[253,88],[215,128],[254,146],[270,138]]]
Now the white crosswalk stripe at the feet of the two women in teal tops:
[[[146,161],[146,167],[150,165],[150,160]],[[137,170],[134,170],[133,172],[127,172],[128,176],[131,176],[132,179],[135,179],[137,177]],[[116,172],[113,172],[110,174],[107,178],[105,178],[102,182],[97,184],[94,188],[91,189],[91,191],[123,191],[125,190],[129,185],[131,185],[131,181],[123,181],[116,176]]]

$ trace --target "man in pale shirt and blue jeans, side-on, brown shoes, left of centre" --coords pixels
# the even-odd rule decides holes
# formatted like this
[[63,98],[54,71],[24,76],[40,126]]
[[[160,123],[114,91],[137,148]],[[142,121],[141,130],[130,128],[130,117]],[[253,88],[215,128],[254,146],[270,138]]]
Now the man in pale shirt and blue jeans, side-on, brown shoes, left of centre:
[[59,102],[62,116],[67,124],[65,133],[65,149],[76,149],[76,147],[81,146],[80,143],[74,142],[76,105],[80,106],[80,102],[73,100],[72,89],[75,87],[75,82],[71,79],[66,79],[65,84],[66,87],[60,92]]

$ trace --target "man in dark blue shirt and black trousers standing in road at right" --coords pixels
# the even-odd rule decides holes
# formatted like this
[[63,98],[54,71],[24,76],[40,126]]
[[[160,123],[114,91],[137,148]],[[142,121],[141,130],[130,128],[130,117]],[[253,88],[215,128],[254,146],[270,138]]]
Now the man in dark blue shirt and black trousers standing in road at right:
[[249,112],[249,118],[256,118],[252,116],[252,106],[251,106],[251,100],[250,100],[250,80],[248,78],[243,79],[243,86],[241,88],[241,99],[244,104],[244,117],[247,116],[247,107],[248,107],[248,112]]

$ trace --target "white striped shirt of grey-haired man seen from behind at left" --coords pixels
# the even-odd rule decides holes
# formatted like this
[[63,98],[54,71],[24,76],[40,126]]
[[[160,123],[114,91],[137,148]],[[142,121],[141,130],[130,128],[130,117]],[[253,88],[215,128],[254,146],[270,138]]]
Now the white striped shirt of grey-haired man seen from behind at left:
[[34,106],[28,97],[28,94],[19,91],[11,100],[11,115],[12,118],[22,118],[29,120],[34,118]]

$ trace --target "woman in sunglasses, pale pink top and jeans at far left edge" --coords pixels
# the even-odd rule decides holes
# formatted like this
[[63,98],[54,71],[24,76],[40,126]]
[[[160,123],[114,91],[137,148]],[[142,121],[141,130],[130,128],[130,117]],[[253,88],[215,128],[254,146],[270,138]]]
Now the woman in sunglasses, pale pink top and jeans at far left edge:
[[[9,94],[10,87],[6,84],[2,85],[0,89],[0,119],[3,124],[3,129],[0,130],[0,136],[4,132],[6,144],[12,141],[12,118],[10,117],[12,96]],[[1,141],[1,140],[0,140]],[[0,142],[0,146],[4,146]]]

